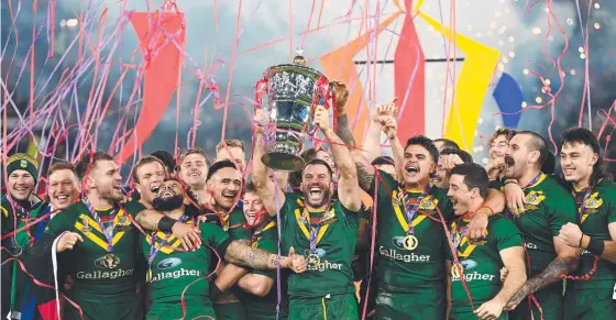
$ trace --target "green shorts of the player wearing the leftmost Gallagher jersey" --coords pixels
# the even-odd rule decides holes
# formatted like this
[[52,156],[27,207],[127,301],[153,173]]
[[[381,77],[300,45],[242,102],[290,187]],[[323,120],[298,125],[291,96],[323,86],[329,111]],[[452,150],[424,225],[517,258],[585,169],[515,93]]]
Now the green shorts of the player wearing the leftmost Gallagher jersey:
[[[81,308],[84,312],[85,320],[134,320],[140,319],[141,306],[136,299],[130,299],[128,301],[109,302],[101,298],[100,302],[80,301],[76,298],[70,298],[75,304]],[[79,311],[74,308],[69,302],[66,302],[64,307],[63,320],[81,320]]]

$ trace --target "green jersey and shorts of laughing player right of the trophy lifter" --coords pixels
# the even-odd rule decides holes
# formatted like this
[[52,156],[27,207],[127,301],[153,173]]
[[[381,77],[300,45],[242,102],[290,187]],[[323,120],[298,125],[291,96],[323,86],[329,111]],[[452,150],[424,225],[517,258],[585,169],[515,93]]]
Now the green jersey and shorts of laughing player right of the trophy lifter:
[[[389,174],[378,172],[377,249],[378,319],[444,319],[446,272],[449,245],[441,214],[453,218],[447,191],[437,187],[403,190]],[[372,181],[372,186],[375,180]],[[369,192],[374,195],[374,187]],[[406,196],[405,196],[406,194]],[[407,199],[408,198],[408,199]],[[421,198],[420,202],[417,200]],[[405,200],[417,206],[413,218],[413,238]],[[440,214],[439,214],[440,211]]]

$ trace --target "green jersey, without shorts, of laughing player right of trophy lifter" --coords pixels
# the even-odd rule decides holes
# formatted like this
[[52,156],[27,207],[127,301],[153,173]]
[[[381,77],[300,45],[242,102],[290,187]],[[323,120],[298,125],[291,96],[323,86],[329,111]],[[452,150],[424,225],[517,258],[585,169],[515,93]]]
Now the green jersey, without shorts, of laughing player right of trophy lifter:
[[[453,206],[447,191],[430,187],[428,195],[421,199],[411,222],[417,246],[407,250],[405,192],[391,175],[380,172],[380,176],[383,181],[380,181],[376,194],[378,287],[393,293],[413,293],[435,286],[444,289],[444,261],[449,245],[439,211],[446,221],[453,218]],[[372,186],[374,183],[373,180]],[[408,190],[406,194],[411,202],[416,202],[422,192],[424,190]],[[374,195],[374,189],[369,194]],[[408,246],[407,243],[406,247],[413,245]]]

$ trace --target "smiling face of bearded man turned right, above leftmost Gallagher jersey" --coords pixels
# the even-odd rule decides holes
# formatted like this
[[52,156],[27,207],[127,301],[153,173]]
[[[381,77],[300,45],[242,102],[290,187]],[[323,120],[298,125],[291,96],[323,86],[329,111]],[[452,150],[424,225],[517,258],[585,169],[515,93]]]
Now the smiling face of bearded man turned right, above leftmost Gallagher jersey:
[[87,186],[90,190],[96,190],[100,199],[110,201],[121,201],[124,199],[122,194],[122,176],[118,165],[108,159],[97,161],[87,176]]

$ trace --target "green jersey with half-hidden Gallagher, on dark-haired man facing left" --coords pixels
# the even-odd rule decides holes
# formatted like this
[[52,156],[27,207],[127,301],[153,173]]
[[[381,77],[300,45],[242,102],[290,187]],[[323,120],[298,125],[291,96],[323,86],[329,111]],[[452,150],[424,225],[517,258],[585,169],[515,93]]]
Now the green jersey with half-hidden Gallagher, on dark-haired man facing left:
[[[458,258],[462,264],[464,280],[469,287],[475,308],[493,299],[503,287],[501,282],[501,251],[522,246],[521,232],[505,217],[497,214],[490,217],[487,236],[470,244],[466,227],[471,220],[461,219],[451,222],[452,242],[458,244]],[[453,264],[453,258],[451,260]],[[472,312],[466,290],[460,273],[452,267],[451,276],[451,311]]]

